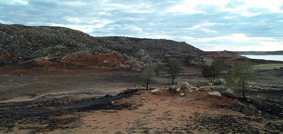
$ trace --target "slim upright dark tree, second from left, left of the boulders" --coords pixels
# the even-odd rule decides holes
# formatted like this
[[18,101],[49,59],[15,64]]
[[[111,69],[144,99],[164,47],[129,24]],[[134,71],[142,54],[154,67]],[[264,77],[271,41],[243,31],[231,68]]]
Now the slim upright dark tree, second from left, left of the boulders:
[[169,66],[169,74],[172,77],[172,85],[174,84],[174,78],[176,78],[176,75],[180,73],[181,64],[178,61],[178,59],[170,59],[168,61]]

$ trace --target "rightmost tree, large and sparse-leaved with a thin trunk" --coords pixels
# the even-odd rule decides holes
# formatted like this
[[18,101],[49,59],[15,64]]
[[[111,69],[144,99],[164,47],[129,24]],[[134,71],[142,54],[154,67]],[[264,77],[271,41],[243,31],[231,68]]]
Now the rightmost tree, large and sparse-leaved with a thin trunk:
[[252,63],[244,61],[243,63],[236,63],[236,68],[227,72],[225,76],[226,86],[232,89],[241,88],[243,92],[249,86],[250,80],[254,77]]

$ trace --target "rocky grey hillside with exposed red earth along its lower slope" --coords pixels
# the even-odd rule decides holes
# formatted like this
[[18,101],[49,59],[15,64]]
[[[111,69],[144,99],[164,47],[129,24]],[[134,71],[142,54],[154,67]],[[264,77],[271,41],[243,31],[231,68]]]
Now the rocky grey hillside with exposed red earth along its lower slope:
[[35,69],[124,69],[183,57],[201,67],[211,59],[185,42],[166,39],[92,37],[65,27],[0,24],[0,67]]

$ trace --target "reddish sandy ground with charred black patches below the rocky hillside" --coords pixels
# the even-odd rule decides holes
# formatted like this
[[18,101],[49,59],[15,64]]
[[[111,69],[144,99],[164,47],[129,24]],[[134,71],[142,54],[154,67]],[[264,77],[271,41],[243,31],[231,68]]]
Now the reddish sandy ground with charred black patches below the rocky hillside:
[[[248,90],[247,96],[260,96],[264,105],[186,90],[181,97],[164,89],[171,83],[165,73],[150,83],[150,87],[163,89],[161,95],[147,90],[117,95],[135,87],[138,73],[1,74],[0,133],[279,134],[283,133],[283,114],[267,108],[282,110],[281,71],[257,71],[252,84],[265,89]],[[206,81],[192,71],[180,74],[175,81],[195,85],[199,80]],[[222,90],[222,86],[212,88]],[[106,94],[113,96],[101,97]]]

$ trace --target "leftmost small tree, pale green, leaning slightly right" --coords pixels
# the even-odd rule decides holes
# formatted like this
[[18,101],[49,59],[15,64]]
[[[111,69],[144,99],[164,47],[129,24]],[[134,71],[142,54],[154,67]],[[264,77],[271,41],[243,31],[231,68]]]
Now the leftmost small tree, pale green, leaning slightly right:
[[138,81],[142,86],[146,86],[146,90],[148,90],[148,83],[154,76],[154,69],[152,66],[148,66],[142,71],[142,74],[139,75]]

